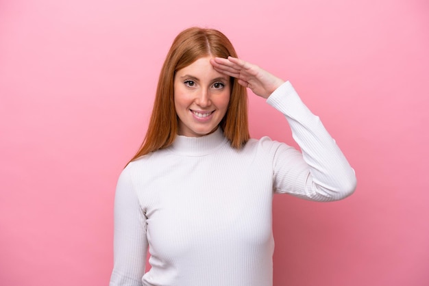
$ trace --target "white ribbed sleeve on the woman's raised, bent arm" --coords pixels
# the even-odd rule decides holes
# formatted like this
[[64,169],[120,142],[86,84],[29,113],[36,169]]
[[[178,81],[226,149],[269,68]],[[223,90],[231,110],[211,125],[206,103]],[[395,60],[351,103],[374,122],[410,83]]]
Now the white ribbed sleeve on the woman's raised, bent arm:
[[[318,116],[302,103],[289,81],[267,99],[284,114],[301,148],[278,144],[274,155],[274,189],[308,200],[330,201],[350,196],[356,176]],[[286,159],[285,159],[286,158]]]

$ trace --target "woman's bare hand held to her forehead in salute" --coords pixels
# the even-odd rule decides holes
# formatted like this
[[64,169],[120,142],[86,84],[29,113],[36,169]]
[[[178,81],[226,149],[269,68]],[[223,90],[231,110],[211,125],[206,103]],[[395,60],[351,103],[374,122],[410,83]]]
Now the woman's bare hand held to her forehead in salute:
[[284,83],[282,79],[271,75],[267,70],[236,57],[228,57],[228,59],[215,57],[210,60],[210,63],[219,73],[236,77],[238,83],[265,99]]

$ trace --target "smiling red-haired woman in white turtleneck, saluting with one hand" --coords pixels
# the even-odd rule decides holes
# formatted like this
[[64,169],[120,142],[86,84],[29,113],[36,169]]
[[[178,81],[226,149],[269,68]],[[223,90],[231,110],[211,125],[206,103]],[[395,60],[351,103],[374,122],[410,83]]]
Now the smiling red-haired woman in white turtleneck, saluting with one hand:
[[[284,114],[302,153],[249,138],[246,88]],[[239,60],[221,32],[186,29],[162,67],[145,140],[119,177],[110,285],[271,286],[273,194],[332,201],[355,186],[289,81]]]

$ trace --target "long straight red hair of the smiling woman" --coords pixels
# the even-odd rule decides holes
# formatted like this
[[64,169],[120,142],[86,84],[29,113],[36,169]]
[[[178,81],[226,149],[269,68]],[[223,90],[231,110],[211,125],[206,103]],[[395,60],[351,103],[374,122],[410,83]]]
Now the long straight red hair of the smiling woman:
[[[156,90],[154,109],[143,144],[131,159],[166,148],[173,144],[178,131],[174,107],[174,76],[201,57],[237,57],[228,38],[215,29],[192,27],[177,35],[162,65]],[[249,140],[247,122],[247,90],[231,77],[231,96],[228,110],[220,127],[233,148],[241,148]]]

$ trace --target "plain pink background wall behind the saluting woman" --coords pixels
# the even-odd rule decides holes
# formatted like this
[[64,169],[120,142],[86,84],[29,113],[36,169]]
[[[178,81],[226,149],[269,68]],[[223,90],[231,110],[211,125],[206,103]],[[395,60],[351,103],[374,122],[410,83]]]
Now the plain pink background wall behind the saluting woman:
[[429,285],[429,3],[201,2],[0,1],[0,285],[108,285],[117,178],[192,25],[291,80],[356,170],[343,201],[275,196],[274,285]]

